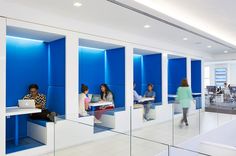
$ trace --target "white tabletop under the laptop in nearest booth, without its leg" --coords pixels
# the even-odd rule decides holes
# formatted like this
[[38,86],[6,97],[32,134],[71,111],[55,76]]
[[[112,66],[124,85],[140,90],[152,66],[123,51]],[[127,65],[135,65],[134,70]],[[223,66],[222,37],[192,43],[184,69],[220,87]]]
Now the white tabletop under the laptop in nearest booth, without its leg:
[[33,113],[40,113],[41,111],[42,110],[38,109],[38,108],[22,109],[22,108],[19,108],[17,106],[7,107],[6,108],[6,116],[33,114]]

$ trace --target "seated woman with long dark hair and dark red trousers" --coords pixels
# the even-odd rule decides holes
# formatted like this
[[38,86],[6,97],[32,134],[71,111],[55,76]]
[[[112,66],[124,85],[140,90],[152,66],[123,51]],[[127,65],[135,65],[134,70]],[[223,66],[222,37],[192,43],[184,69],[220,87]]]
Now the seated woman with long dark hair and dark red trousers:
[[100,85],[100,95],[101,95],[101,102],[111,102],[111,105],[108,106],[101,106],[96,109],[95,111],[95,123],[101,123],[100,119],[102,117],[102,114],[104,114],[108,110],[113,110],[114,109],[114,97],[107,86],[107,84],[101,84]]

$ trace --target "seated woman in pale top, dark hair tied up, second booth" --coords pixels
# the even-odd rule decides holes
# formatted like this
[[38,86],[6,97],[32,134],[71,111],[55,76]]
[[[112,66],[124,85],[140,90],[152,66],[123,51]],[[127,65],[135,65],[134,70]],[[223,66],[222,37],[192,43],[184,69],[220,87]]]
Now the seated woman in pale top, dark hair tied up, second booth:
[[82,84],[81,85],[81,93],[79,95],[79,115],[80,116],[88,116],[89,102],[90,99],[87,97],[89,92],[88,86]]

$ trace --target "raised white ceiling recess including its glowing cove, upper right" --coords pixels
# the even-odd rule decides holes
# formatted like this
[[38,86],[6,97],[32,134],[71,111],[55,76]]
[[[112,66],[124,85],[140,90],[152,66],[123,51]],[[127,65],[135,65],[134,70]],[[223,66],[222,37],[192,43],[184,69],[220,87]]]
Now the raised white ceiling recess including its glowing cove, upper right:
[[236,45],[236,20],[234,20],[236,13],[235,0],[130,1],[144,4],[160,13]]

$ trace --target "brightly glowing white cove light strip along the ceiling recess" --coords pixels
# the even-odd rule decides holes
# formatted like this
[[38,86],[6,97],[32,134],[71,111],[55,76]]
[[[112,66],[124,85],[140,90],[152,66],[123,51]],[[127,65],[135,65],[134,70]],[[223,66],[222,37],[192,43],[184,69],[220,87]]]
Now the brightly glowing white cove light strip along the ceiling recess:
[[170,1],[167,0],[134,0],[134,1],[236,46],[236,40],[234,39],[233,36],[229,36],[225,34],[223,31],[217,29],[216,27],[210,26],[207,22],[204,22],[198,16],[195,17],[193,15],[190,15],[184,9],[179,9],[176,6],[171,5],[169,3]]

